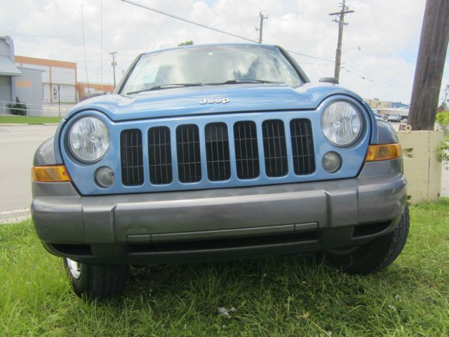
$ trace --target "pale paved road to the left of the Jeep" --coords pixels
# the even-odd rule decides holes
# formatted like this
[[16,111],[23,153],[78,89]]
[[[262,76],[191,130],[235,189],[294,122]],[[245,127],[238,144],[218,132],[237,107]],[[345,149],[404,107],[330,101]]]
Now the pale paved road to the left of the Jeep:
[[57,126],[0,126],[0,211],[28,209],[34,152]]

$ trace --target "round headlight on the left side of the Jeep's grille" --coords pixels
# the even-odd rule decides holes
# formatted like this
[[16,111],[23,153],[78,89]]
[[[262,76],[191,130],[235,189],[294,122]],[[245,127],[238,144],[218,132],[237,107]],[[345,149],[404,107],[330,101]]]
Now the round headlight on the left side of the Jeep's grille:
[[96,117],[83,117],[69,131],[70,152],[86,163],[98,161],[109,149],[109,130]]

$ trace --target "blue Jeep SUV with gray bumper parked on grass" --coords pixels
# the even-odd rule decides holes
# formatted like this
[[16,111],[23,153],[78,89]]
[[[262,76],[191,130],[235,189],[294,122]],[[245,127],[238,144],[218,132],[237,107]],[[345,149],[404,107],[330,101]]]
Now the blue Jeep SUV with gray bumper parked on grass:
[[279,46],[142,53],[62,119],[32,176],[36,232],[79,296],[121,293],[128,265],[319,252],[368,274],[408,235],[393,128]]

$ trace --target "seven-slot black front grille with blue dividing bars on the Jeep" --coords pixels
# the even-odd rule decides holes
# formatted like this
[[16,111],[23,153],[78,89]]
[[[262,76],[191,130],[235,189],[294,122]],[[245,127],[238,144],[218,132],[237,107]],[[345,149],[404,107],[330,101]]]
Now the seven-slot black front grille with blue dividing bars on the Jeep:
[[121,132],[121,181],[125,186],[144,184],[144,167],[149,171],[147,184],[201,182],[201,188],[207,187],[208,181],[223,183],[233,177],[281,181],[277,179],[316,170],[309,119],[293,119],[290,125],[281,119],[267,119],[257,123],[154,126],[147,130],[145,156],[142,131],[133,128]]

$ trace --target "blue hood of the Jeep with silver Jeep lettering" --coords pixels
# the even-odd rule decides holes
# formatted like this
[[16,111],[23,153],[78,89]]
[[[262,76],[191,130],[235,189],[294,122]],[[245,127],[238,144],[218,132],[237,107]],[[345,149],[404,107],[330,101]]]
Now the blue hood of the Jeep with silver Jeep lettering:
[[[330,95],[355,93],[335,84],[302,84],[297,88],[281,84],[229,84],[224,86],[191,86],[146,91],[136,95],[102,95],[75,105],[67,114],[98,110],[112,121],[182,117],[196,114],[229,112],[262,112],[276,110],[314,110]],[[227,103],[205,103],[205,99],[227,98]]]

